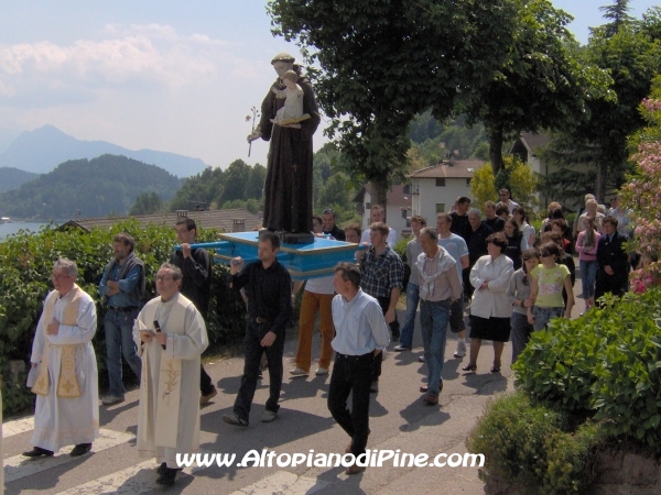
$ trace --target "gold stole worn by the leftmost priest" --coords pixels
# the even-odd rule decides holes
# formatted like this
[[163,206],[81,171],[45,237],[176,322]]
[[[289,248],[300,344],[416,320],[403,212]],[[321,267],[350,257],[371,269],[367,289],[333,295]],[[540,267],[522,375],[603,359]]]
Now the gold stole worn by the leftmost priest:
[[[83,290],[77,285],[64,296],[66,307],[62,316],[61,324],[67,327],[75,327],[78,320],[78,308],[80,307],[80,300]],[[55,309],[55,302],[59,297],[57,290],[53,290],[46,304],[44,305],[44,333],[48,328],[48,323],[53,320],[53,309]],[[37,395],[48,395],[48,388],[51,387],[51,380],[48,376],[48,350],[51,349],[51,342],[46,334],[44,345],[44,353],[42,358],[41,371],[36,377],[36,382],[32,387],[32,392]],[[65,344],[61,345],[62,358],[59,367],[59,378],[57,380],[57,397],[62,398],[74,398],[80,397],[80,385],[78,385],[78,378],[76,378],[76,345],[77,344]]]

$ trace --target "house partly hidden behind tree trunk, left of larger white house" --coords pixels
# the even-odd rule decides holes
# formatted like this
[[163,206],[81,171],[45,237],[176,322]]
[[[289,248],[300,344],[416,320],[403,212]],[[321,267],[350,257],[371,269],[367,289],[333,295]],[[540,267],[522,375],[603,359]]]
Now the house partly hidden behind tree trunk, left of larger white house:
[[[404,193],[403,184],[392,186],[386,195],[386,223],[397,231],[397,240],[402,239],[402,234],[411,234],[411,195]],[[370,208],[376,202],[372,201],[372,185],[367,184],[362,187],[354,202],[357,202],[358,212],[362,216],[362,230],[368,229],[370,224]]]

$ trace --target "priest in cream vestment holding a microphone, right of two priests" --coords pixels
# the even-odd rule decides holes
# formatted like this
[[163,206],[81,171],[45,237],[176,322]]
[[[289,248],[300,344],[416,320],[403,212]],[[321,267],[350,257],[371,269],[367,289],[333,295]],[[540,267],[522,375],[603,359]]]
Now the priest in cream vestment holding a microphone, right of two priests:
[[156,483],[174,484],[176,454],[199,449],[199,365],[208,345],[204,319],[180,294],[182,272],[164,263],[159,297],[138,315],[133,338],[142,359],[138,454],[161,463]]

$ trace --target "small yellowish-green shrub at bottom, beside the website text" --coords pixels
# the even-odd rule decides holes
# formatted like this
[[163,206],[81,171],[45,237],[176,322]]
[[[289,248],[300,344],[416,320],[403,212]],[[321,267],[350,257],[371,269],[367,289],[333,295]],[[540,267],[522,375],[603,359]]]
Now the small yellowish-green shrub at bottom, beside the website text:
[[489,403],[470,432],[469,452],[485,454],[480,479],[502,479],[522,494],[584,493],[594,480],[602,426],[568,431],[556,409],[533,405],[522,392]]

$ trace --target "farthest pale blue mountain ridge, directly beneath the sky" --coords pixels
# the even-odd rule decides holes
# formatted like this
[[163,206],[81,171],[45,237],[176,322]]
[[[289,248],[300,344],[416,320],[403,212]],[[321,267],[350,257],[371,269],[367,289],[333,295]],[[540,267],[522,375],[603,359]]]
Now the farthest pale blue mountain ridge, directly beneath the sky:
[[177,177],[199,174],[208,165],[199,158],[151,150],[132,151],[106,141],[80,141],[53,125],[19,135],[0,153],[0,167],[45,174],[67,160],[95,158],[104,154],[123,155],[164,168]]

